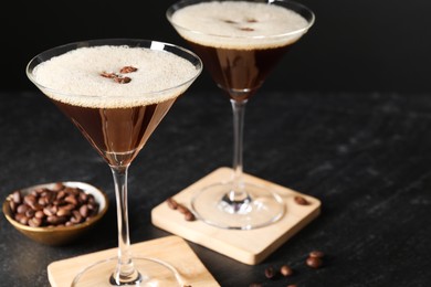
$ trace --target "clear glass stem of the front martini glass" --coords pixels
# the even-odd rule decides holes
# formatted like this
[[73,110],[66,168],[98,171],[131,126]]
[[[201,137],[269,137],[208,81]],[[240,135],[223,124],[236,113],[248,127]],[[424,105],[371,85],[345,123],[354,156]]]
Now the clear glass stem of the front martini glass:
[[128,166],[111,167],[114,177],[118,222],[118,263],[111,277],[111,284],[130,285],[140,280],[140,274],[132,261],[127,211],[127,171]]

